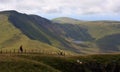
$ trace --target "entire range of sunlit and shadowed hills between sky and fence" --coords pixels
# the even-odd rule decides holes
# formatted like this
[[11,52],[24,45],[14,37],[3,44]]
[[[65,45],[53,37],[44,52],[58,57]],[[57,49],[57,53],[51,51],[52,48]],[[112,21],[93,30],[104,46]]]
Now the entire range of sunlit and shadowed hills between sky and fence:
[[56,18],[52,21],[16,11],[0,12],[0,48],[105,53],[120,51],[120,22],[80,21]]

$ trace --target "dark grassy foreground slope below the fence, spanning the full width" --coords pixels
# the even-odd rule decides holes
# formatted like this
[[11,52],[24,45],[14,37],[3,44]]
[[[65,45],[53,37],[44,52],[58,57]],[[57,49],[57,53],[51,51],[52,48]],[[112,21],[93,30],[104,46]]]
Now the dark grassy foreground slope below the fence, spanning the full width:
[[0,54],[1,72],[120,72],[120,55]]

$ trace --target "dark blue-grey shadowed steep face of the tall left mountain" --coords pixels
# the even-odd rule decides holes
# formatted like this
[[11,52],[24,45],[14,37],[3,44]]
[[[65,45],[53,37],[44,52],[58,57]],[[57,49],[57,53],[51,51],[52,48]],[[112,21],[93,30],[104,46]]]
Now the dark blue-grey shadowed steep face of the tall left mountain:
[[26,14],[14,13],[9,16],[8,20],[30,39],[51,44],[48,38],[39,31],[40,29],[37,28],[37,25],[32,21],[30,16]]

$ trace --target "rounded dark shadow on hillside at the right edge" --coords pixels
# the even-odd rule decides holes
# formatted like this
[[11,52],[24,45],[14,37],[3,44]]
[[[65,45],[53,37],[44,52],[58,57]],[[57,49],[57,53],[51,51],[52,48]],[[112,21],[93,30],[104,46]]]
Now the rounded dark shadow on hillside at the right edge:
[[96,43],[101,52],[119,51],[118,46],[120,45],[120,34],[105,36],[97,40]]

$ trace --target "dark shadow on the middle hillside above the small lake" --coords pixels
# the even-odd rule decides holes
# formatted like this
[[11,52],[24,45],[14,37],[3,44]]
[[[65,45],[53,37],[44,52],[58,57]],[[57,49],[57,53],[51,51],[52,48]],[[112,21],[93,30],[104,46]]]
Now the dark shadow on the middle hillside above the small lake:
[[81,27],[78,24],[54,24],[62,33],[59,33],[67,38],[72,38],[77,41],[92,41],[94,38],[89,34],[87,28]]

